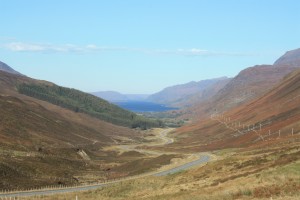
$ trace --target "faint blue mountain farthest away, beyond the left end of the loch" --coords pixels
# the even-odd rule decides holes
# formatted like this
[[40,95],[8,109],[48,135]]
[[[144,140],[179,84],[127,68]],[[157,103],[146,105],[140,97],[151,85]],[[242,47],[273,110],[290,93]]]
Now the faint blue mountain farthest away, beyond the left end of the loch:
[[115,91],[103,91],[91,93],[97,97],[105,99],[109,102],[123,102],[123,101],[144,101],[149,95],[147,94],[121,94]]

